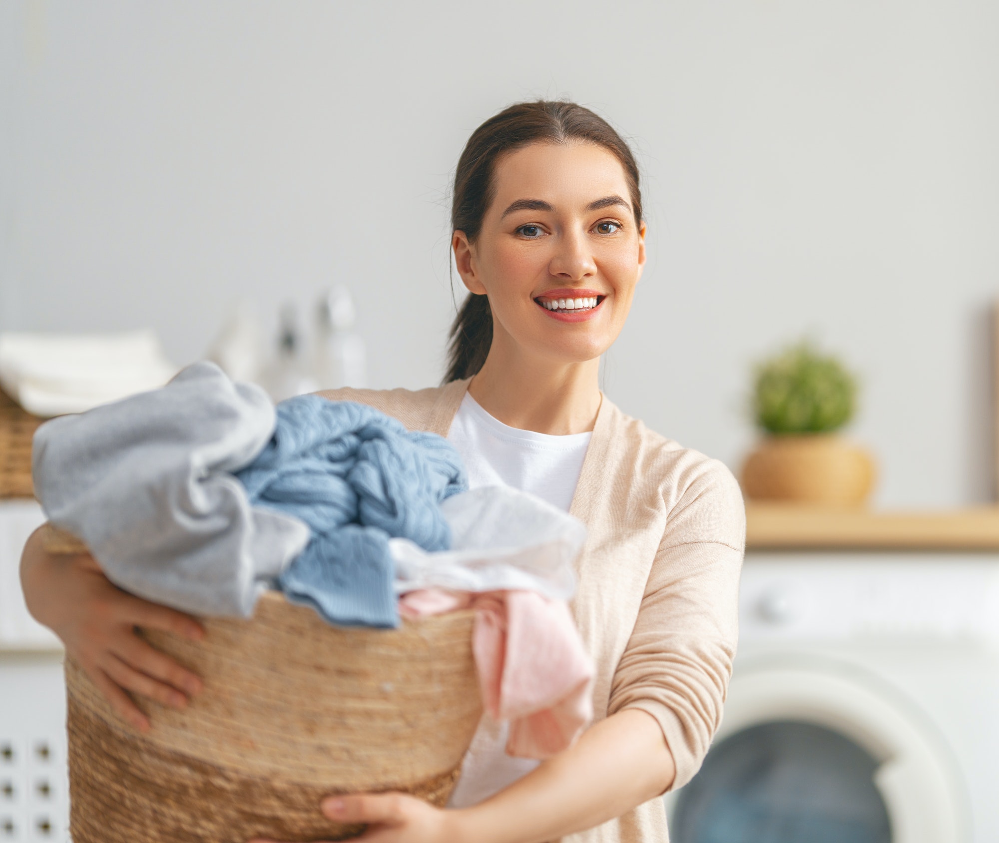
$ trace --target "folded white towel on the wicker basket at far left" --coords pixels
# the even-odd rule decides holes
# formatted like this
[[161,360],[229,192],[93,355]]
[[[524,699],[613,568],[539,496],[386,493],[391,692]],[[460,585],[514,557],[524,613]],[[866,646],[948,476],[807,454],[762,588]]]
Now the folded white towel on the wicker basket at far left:
[[176,372],[152,331],[0,335],[0,387],[36,416],[83,413],[162,387]]

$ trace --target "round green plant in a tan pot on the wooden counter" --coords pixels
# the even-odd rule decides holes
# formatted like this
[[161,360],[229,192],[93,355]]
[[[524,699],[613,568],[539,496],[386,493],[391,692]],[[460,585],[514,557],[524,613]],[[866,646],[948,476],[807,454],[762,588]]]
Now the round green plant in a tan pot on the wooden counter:
[[837,431],[853,418],[857,382],[807,342],[756,368],[755,422],[764,438],[742,468],[753,499],[857,505],[874,484],[874,462]]

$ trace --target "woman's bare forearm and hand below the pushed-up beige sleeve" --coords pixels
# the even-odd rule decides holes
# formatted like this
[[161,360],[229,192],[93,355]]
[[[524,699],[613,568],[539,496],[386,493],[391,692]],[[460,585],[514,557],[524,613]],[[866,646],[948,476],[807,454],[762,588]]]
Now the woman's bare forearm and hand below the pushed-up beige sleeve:
[[672,780],[673,758],[658,723],[626,709],[472,808],[446,811],[387,793],[333,797],[323,811],[339,822],[371,823],[359,838],[367,843],[544,843],[619,817]]

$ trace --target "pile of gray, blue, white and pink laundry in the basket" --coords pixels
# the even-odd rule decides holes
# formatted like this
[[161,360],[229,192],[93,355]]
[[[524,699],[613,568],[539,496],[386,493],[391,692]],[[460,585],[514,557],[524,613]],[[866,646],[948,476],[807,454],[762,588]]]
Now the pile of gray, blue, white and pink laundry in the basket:
[[567,607],[582,524],[504,486],[468,490],[458,452],[370,407],[275,408],[214,364],[43,424],[36,494],[117,585],[202,615],[251,616],[280,588],[338,625],[476,609],[484,706],[507,752],[544,758],[592,715]]

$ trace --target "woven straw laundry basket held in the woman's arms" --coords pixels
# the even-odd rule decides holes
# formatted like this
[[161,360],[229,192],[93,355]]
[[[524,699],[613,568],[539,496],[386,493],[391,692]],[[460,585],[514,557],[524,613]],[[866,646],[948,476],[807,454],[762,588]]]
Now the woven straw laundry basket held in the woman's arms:
[[444,805],[482,713],[473,619],[341,629],[269,592],[201,642],[144,632],[204,680],[184,711],[137,700],[145,735],[67,659],[74,843],[342,840],[363,827],[323,817],[331,793]]

